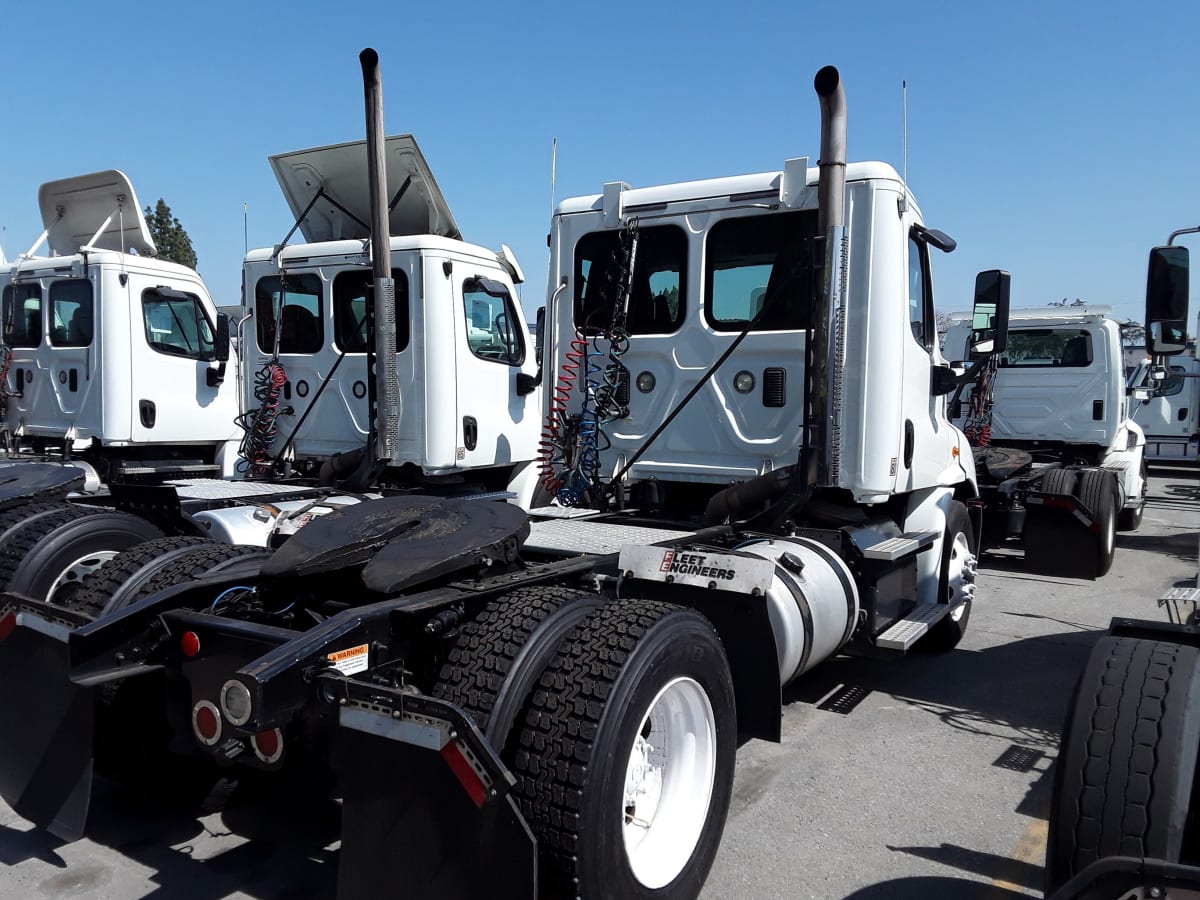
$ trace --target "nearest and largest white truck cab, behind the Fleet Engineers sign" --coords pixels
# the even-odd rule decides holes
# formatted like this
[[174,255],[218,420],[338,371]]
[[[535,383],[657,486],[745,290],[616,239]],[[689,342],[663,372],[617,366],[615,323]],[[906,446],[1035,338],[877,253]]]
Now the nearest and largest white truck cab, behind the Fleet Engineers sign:
[[[614,182],[558,205],[542,473],[559,503],[598,505],[610,485],[618,503],[697,514],[731,482],[796,467],[805,360],[821,353],[809,299],[817,180],[798,158],[754,175]],[[976,496],[966,439],[935,386],[948,370],[930,257],[954,245],[925,229],[886,163],[850,163],[845,197],[820,488],[859,511],[895,503],[905,530],[941,534],[947,504]],[[938,556],[918,563],[930,601]]]

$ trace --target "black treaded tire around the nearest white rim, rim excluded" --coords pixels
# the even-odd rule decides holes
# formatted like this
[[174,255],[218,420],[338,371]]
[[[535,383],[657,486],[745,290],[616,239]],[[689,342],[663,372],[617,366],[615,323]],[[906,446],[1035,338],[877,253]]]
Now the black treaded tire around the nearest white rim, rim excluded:
[[[626,761],[659,691],[697,683],[715,722],[713,788],[691,856],[670,883],[635,877],[622,836]],[[712,868],[733,786],[737,716],[720,637],[694,610],[600,607],[568,637],[530,698],[512,769],[539,845],[547,896],[695,898]]]

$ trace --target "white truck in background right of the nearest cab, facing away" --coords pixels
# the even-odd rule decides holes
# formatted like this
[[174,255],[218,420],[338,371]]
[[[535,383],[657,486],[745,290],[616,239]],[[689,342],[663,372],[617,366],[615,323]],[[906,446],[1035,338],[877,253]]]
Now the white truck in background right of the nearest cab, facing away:
[[[970,362],[972,323],[944,344]],[[982,386],[950,404],[974,449],[985,539],[1018,540],[1040,571],[1104,575],[1146,493],[1117,322],[1106,307],[1014,310],[1008,348],[985,365]]]

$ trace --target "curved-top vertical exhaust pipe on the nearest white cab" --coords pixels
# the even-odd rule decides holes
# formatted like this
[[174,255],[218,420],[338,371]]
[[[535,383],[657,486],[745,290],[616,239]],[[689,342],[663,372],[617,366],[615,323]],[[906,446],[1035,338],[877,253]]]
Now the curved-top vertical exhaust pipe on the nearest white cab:
[[809,334],[809,416],[804,487],[836,485],[841,460],[845,346],[846,92],[834,66],[812,79],[821,103],[817,228],[824,238],[824,275]]

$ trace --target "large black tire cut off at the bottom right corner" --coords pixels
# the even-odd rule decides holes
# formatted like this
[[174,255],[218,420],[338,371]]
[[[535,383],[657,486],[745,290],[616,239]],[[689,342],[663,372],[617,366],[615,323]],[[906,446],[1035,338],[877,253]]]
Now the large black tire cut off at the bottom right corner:
[[1046,895],[1102,857],[1194,863],[1181,852],[1194,844],[1188,808],[1198,748],[1200,650],[1102,637],[1075,689],[1058,750]]

